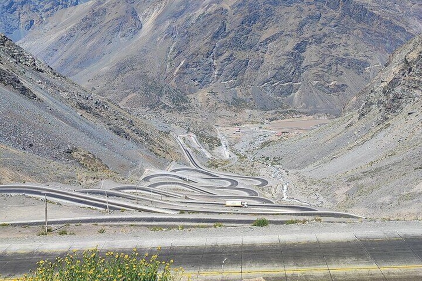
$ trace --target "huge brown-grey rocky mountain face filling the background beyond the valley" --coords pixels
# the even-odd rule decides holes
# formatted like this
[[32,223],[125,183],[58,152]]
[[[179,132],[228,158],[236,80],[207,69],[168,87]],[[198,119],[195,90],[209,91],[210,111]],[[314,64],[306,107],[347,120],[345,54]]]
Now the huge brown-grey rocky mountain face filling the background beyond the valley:
[[418,0],[93,0],[19,44],[124,106],[339,114],[422,31],[421,10]]

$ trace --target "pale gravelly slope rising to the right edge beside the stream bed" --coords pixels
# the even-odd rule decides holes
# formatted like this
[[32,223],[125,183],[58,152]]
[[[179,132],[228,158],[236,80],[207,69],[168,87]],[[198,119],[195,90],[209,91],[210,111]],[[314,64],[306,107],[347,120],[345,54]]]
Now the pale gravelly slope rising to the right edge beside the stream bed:
[[[421,217],[422,35],[395,52],[350,113],[307,135],[269,142],[295,187],[369,217]],[[294,189],[294,187],[292,187]]]

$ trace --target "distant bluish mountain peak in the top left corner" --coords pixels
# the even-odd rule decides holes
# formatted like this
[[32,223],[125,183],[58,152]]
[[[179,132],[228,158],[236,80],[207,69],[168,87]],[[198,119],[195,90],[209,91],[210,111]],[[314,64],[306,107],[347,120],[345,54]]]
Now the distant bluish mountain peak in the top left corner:
[[0,32],[13,41],[25,36],[56,11],[86,0],[3,0],[0,3]]

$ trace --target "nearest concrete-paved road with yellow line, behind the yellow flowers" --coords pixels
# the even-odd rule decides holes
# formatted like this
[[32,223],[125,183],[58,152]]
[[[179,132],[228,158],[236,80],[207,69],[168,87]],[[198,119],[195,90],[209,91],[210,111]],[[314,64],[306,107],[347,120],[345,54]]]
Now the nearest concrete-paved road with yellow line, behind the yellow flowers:
[[173,259],[193,280],[420,281],[422,234],[343,233],[162,241],[0,244],[0,273],[21,275],[40,259],[98,246],[101,252],[155,253]]

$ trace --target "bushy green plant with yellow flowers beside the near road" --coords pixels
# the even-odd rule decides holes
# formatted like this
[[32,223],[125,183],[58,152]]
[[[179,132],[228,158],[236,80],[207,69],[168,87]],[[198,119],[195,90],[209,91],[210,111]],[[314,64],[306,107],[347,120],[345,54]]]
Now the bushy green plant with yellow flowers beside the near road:
[[19,281],[180,281],[184,271],[172,264],[173,260],[159,261],[158,253],[151,258],[148,253],[138,256],[136,249],[130,255],[107,252],[105,256],[98,249],[84,251],[82,256],[74,251],[54,262],[39,261],[38,268]]

